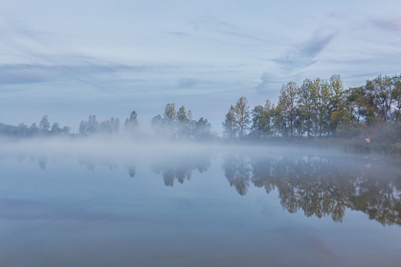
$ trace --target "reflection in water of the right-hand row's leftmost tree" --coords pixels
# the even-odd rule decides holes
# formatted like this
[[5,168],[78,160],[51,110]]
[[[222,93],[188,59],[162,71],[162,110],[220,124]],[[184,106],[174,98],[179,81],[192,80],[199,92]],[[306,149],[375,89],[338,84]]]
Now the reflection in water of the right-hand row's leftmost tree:
[[225,155],[222,168],[230,186],[235,186],[238,194],[244,196],[248,191],[251,176],[249,158],[240,153]]

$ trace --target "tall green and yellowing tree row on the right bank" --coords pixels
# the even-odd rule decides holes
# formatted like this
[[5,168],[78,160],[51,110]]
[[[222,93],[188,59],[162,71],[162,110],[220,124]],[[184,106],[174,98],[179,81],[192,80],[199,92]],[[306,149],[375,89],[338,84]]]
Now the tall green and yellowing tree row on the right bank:
[[305,79],[302,85],[292,81],[283,84],[276,105],[267,99],[251,110],[246,97],[241,97],[229,108],[222,126],[230,140],[349,138],[373,126],[384,127],[384,134],[399,139],[400,111],[401,75],[379,75],[348,89],[344,89],[340,75],[333,75],[328,80]]

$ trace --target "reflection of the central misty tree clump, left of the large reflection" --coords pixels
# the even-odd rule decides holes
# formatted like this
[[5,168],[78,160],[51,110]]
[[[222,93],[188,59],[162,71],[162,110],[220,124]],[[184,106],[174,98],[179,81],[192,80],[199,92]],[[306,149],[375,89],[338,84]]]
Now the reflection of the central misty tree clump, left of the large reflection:
[[207,171],[210,164],[210,156],[208,155],[183,155],[152,164],[151,168],[157,174],[162,173],[166,186],[173,186],[174,180],[177,179],[180,184],[183,184],[185,179],[190,180],[192,170],[198,169],[202,173]]

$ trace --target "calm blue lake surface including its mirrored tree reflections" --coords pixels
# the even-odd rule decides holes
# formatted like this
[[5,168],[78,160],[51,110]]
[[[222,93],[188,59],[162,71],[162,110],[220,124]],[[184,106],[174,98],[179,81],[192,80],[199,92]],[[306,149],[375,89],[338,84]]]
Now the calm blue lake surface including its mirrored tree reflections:
[[0,266],[399,266],[401,164],[237,148],[0,158]]

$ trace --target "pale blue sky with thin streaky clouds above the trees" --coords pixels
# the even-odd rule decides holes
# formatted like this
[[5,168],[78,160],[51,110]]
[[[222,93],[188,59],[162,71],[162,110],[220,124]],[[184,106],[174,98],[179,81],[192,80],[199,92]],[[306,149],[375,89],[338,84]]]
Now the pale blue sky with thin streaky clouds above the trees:
[[222,132],[241,96],[339,74],[344,87],[399,74],[400,1],[0,0],[0,122],[138,113],[166,103]]

